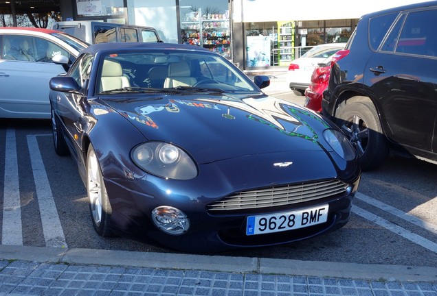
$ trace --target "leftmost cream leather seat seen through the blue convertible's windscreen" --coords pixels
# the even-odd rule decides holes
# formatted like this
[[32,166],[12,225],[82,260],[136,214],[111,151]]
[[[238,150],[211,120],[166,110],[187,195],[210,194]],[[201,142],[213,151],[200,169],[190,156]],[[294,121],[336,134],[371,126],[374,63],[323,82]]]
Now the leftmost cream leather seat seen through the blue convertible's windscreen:
[[104,60],[100,90],[113,90],[131,86],[128,77],[123,76],[123,69],[119,62]]

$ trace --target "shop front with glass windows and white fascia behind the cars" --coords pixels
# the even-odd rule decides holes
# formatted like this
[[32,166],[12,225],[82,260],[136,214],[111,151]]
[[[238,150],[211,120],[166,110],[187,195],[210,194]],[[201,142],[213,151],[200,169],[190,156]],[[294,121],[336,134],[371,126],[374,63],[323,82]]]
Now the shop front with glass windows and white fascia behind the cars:
[[164,42],[208,48],[250,71],[287,66],[314,45],[346,42],[363,14],[418,2],[61,0],[61,14],[64,21],[155,27]]

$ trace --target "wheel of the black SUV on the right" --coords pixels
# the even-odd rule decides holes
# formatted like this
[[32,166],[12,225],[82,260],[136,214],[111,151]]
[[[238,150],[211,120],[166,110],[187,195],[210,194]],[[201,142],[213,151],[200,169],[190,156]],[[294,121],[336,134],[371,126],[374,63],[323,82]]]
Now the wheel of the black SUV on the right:
[[346,101],[337,110],[337,125],[348,136],[359,156],[363,171],[376,169],[388,155],[377,110],[367,101]]

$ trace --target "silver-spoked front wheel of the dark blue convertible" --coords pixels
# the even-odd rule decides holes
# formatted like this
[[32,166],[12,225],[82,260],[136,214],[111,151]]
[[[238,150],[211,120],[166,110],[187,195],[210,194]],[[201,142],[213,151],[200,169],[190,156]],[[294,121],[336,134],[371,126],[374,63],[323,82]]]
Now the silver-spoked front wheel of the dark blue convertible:
[[89,145],[87,153],[87,193],[94,229],[100,236],[113,236],[110,225],[112,208],[104,186],[96,151],[92,145]]

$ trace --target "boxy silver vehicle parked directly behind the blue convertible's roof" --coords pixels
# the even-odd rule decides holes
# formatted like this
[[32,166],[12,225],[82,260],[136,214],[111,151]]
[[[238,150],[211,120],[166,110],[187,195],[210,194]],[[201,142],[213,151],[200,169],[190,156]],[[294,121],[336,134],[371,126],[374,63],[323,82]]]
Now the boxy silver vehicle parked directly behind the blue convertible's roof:
[[104,23],[101,21],[61,21],[52,29],[75,36],[89,44],[102,42],[162,42],[153,27]]

